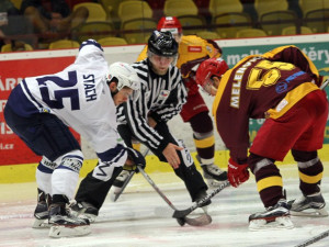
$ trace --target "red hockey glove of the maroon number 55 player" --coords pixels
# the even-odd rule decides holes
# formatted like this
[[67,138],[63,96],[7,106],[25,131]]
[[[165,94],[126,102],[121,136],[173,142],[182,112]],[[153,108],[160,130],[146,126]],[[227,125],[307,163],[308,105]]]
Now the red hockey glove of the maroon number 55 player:
[[232,187],[238,187],[242,182],[246,182],[249,179],[248,165],[239,165],[235,162],[231,158],[228,160],[228,181]]

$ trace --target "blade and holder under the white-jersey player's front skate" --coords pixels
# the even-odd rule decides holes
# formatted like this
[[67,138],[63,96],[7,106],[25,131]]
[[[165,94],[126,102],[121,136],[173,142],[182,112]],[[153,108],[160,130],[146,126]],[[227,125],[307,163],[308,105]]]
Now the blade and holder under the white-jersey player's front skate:
[[60,237],[78,237],[90,234],[90,225],[81,226],[65,226],[65,225],[53,225],[50,227],[49,237],[60,238]]

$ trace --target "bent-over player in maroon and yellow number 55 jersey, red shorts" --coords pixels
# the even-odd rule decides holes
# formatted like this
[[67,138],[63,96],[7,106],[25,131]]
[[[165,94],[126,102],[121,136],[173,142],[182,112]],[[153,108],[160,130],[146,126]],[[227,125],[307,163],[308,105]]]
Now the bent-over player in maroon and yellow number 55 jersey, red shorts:
[[[238,187],[247,181],[248,169],[256,177],[265,211],[249,216],[249,228],[292,228],[291,214],[328,216],[320,191],[324,166],[317,154],[328,102],[311,60],[295,46],[245,57],[231,69],[222,58],[211,58],[198,67],[196,81],[216,96],[213,114],[230,151],[229,182]],[[251,146],[249,119],[265,119]],[[290,150],[298,166],[303,197],[287,202],[275,161]]]

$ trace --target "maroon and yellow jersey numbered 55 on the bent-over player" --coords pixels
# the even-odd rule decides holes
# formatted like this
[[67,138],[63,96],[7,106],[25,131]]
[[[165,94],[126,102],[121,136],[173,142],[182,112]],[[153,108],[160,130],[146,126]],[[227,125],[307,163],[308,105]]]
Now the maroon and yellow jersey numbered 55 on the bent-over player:
[[307,93],[319,90],[318,77],[314,64],[295,46],[248,56],[225,72],[213,114],[230,157],[247,161],[249,119],[284,115]]

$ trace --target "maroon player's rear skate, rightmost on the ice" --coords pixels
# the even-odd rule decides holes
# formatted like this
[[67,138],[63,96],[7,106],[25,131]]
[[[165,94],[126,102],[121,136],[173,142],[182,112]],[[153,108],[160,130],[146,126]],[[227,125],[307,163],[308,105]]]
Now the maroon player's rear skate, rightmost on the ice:
[[310,217],[326,217],[328,212],[326,211],[326,202],[320,192],[303,195],[298,200],[288,201],[291,207],[291,214],[294,216],[310,216]]

